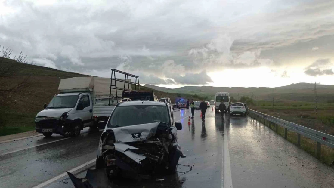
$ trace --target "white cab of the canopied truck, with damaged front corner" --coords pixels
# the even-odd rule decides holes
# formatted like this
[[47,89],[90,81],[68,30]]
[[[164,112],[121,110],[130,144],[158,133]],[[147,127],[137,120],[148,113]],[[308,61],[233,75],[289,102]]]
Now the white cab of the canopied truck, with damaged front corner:
[[44,136],[53,133],[78,136],[84,127],[92,125],[93,100],[90,92],[55,95],[35,118],[35,130]]

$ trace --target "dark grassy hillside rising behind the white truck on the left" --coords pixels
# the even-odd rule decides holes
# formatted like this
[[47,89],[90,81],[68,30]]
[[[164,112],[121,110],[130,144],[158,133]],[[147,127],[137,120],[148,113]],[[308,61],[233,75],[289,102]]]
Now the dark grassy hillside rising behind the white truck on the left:
[[[43,104],[48,104],[57,93],[60,79],[88,76],[37,65],[17,64],[11,59],[5,62],[0,61],[0,63],[22,66],[15,76],[4,78],[8,84],[15,85],[25,78],[29,81],[28,85],[19,92],[0,93],[2,94],[0,95],[0,136],[34,130],[36,114],[43,110]],[[141,86],[141,90],[151,90],[151,88]],[[154,94],[158,98],[169,97],[172,101],[177,97],[193,98],[191,95],[158,90],[154,90]]]

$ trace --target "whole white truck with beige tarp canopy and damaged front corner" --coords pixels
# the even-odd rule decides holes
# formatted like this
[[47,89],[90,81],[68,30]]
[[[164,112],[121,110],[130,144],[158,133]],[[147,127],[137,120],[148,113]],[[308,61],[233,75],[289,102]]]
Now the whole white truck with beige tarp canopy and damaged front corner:
[[90,76],[61,79],[59,94],[48,105],[44,104],[44,110],[36,115],[36,132],[46,137],[53,133],[78,136],[84,127],[97,127],[93,117],[103,115],[102,118],[108,119],[113,110],[105,106],[109,105],[110,96],[117,95],[117,90],[110,89],[115,81],[119,82],[120,88],[117,90],[122,93],[121,81],[113,80],[111,83],[110,78]]

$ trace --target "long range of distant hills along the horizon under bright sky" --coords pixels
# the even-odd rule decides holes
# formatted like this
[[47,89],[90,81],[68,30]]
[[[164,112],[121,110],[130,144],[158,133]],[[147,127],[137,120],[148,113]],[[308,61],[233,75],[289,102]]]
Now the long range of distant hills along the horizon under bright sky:
[[[184,86],[179,88],[158,87],[145,84],[157,90],[165,92],[186,93],[190,95],[208,96],[214,98],[216,92],[229,92],[234,98],[241,96],[252,97],[255,100],[272,100],[273,89],[274,98],[282,101],[314,101],[314,84],[293,83],[281,87],[213,87],[213,86]],[[318,102],[327,102],[334,99],[334,85],[317,84]]]

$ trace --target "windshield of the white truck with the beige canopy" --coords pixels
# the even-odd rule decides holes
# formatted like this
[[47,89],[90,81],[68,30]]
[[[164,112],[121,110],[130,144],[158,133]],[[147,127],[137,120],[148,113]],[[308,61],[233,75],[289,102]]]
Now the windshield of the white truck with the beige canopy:
[[54,97],[47,108],[74,108],[79,96]]

